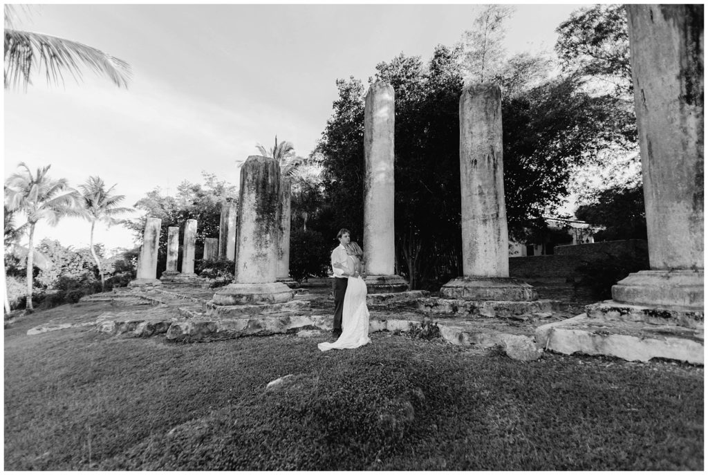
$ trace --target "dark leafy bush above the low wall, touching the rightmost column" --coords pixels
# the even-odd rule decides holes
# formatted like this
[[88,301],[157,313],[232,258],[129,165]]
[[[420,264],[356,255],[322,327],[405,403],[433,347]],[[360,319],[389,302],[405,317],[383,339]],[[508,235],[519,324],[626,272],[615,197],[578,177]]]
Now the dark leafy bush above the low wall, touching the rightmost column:
[[644,188],[641,183],[599,190],[593,193],[590,202],[579,206],[575,214],[578,219],[605,227],[595,234],[595,241],[646,239]]

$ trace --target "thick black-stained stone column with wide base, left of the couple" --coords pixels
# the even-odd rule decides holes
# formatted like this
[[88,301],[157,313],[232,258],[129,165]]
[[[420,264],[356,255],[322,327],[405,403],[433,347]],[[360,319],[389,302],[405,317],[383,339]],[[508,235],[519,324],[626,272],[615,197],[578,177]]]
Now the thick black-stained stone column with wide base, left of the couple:
[[292,299],[290,288],[276,282],[279,202],[278,161],[249,156],[241,166],[234,282],[214,294],[214,304],[276,304]]

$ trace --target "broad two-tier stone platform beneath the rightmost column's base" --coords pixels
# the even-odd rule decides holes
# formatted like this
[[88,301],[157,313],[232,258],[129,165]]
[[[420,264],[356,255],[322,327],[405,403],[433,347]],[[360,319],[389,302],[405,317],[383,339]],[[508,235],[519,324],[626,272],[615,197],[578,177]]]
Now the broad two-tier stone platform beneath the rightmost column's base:
[[629,361],[666,358],[703,364],[703,312],[658,309],[607,300],[584,314],[539,326],[536,340],[546,350],[571,355],[607,355]]

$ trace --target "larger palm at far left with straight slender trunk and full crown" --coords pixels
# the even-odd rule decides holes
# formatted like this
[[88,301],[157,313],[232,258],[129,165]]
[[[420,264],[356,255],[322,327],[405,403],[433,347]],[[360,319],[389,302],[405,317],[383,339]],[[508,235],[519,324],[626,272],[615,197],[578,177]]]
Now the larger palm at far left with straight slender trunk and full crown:
[[[51,165],[37,169],[32,175],[24,162],[18,164],[20,171],[13,173],[5,182],[5,205],[8,211],[21,211],[27,215],[29,227],[29,251],[34,249],[35,226],[40,219],[46,219],[51,226],[59,218],[71,214],[76,207],[76,190],[69,188],[67,180],[52,180],[47,172]],[[34,253],[27,253],[27,309],[32,310],[32,280]]]

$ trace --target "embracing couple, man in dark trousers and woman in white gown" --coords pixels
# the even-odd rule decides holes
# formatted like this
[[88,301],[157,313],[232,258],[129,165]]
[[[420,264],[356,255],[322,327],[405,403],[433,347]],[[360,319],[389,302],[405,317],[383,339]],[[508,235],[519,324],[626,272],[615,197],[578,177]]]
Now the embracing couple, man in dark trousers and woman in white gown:
[[334,273],[334,343],[319,343],[322,351],[358,348],[370,343],[369,309],[366,307],[364,251],[350,242],[349,230],[340,229],[339,246],[332,251]]

